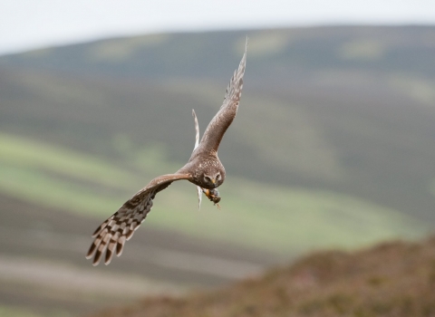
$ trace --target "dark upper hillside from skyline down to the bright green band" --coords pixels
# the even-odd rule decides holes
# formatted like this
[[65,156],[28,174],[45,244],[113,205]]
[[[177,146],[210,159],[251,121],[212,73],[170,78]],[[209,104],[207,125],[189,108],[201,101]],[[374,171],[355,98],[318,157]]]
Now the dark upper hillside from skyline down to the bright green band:
[[435,222],[435,27],[159,34],[3,56],[2,130],[122,166],[150,148],[182,164],[190,111],[204,130],[246,34],[242,105],[219,152],[229,174]]

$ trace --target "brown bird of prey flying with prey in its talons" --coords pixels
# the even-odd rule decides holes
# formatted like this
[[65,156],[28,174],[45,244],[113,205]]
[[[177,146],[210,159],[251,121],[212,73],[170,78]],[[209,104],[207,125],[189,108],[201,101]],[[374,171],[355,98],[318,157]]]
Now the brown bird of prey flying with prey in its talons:
[[197,186],[199,205],[202,193],[218,204],[220,197],[217,187],[225,180],[225,168],[218,158],[218,147],[236,117],[246,64],[247,44],[242,60],[227,86],[224,102],[215,117],[208,123],[200,142],[198,142],[198,120],[193,111],[197,140],[188,163],[174,174],[152,179],[146,187],[140,189],[95,230],[92,235],[94,240],[86,255],[87,259],[93,257],[93,265],[100,263],[104,253],[104,264],[110,264],[115,253],[117,256],[121,255],[125,242],[131,239],[134,231],[150,212],[156,195],[176,180],[186,179]]

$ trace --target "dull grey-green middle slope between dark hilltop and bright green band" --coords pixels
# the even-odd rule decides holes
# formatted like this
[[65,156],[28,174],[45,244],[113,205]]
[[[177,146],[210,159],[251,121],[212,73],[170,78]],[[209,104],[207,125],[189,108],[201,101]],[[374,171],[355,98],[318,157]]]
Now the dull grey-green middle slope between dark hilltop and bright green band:
[[[355,76],[283,88],[250,87],[247,78],[239,114],[219,151],[228,174],[266,186],[344,192],[435,221],[434,109],[391,75]],[[3,131],[87,151],[134,173],[149,166],[148,156],[167,156],[172,163],[149,168],[153,176],[189,159],[191,109],[205,130],[227,84],[12,69],[0,72],[0,82]]]

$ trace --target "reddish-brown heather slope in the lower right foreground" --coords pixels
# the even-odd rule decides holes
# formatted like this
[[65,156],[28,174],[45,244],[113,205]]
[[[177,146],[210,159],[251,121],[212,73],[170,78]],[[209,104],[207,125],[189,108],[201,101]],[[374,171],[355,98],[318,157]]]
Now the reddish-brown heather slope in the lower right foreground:
[[96,316],[435,316],[435,236],[314,254],[218,291],[148,298]]

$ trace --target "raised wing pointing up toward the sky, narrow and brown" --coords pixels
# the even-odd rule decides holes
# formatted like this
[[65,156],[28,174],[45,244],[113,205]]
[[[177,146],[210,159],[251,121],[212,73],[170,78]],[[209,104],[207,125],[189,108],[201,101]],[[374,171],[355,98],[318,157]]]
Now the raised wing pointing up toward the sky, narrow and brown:
[[218,152],[220,141],[237,114],[238,103],[240,102],[240,96],[242,94],[243,75],[245,74],[246,65],[247,45],[242,60],[227,86],[224,103],[213,120],[208,123],[207,130],[204,132],[201,142],[199,143],[198,151]]

